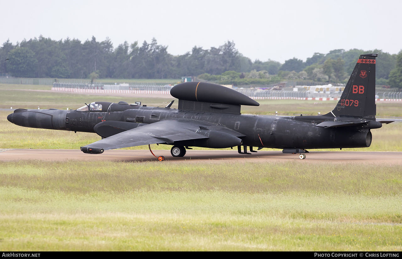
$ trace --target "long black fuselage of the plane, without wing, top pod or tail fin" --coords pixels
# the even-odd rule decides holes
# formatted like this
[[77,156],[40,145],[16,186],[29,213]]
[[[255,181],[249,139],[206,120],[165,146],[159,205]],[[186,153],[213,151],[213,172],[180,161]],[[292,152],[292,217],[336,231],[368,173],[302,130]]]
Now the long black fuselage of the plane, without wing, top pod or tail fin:
[[[117,105],[117,104],[113,104]],[[211,126],[224,126],[244,136],[242,145],[264,148],[354,148],[368,147],[371,144],[371,128],[381,127],[381,123],[354,127],[317,127],[322,121],[334,118],[323,116],[264,116],[226,113],[184,111],[160,107],[129,107],[118,105],[121,111],[64,111],[57,109],[20,109],[9,115],[8,120],[25,127],[59,129],[74,132],[94,132],[94,127],[103,121],[122,121],[130,123],[155,123],[165,119],[180,119],[207,123]],[[304,119],[304,118],[306,119]],[[373,125],[374,123],[374,125]],[[204,124],[203,124],[204,125]],[[212,129],[212,128],[211,128]],[[208,129],[199,129],[207,131]],[[196,133],[200,133],[196,132]],[[216,140],[213,140],[216,142]],[[227,145],[230,145],[228,142]],[[217,148],[206,140],[184,140],[174,144],[181,146],[201,146]],[[225,146],[225,148],[231,146]]]

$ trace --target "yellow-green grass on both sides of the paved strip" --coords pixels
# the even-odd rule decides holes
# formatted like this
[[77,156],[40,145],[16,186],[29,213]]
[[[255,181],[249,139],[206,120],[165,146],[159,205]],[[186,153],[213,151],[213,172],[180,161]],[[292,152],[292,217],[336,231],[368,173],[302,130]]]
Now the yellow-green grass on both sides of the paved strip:
[[[0,108],[76,109],[100,98],[0,91]],[[267,100],[242,112],[316,114],[334,105]],[[377,104],[377,117],[400,111],[399,103]],[[19,127],[9,113],[0,111],[0,148],[78,149],[99,139]],[[374,129],[371,147],[356,150],[402,151],[401,127]],[[0,249],[401,251],[401,190],[396,164],[0,162]]]

